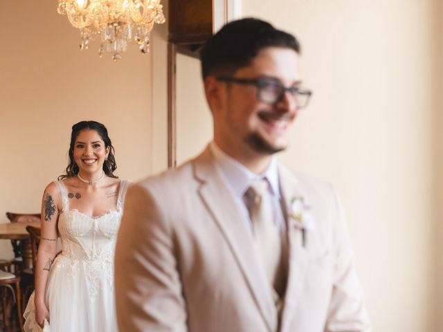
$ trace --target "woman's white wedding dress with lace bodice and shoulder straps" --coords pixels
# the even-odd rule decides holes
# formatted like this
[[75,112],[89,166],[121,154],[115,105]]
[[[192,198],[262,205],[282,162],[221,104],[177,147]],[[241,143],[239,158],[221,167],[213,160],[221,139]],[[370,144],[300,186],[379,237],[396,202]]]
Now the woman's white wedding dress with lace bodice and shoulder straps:
[[[128,181],[120,181],[116,210],[89,216],[69,208],[66,187],[60,190],[58,230],[62,252],[55,257],[46,284],[49,324],[44,331],[117,331],[114,304],[114,252]],[[35,323],[34,293],[24,313],[25,331],[42,331]]]

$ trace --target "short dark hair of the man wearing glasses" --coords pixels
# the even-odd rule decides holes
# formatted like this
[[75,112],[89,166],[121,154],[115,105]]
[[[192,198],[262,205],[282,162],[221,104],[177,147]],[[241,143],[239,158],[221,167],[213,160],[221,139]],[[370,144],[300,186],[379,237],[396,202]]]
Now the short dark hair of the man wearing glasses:
[[269,46],[291,48],[300,53],[296,37],[275,29],[268,22],[246,18],[231,21],[210,37],[200,51],[201,75],[229,76],[251,64]]

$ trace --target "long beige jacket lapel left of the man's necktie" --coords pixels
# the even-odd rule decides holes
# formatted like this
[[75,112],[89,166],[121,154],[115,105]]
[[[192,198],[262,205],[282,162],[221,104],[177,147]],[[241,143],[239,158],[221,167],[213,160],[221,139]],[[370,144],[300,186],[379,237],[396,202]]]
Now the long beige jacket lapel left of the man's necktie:
[[228,242],[269,331],[275,331],[278,325],[277,312],[271,292],[267,291],[269,283],[260,268],[253,248],[251,230],[247,226],[242,210],[215,165],[208,147],[203,154],[193,160],[193,168],[195,177],[201,183],[199,187],[201,200]]

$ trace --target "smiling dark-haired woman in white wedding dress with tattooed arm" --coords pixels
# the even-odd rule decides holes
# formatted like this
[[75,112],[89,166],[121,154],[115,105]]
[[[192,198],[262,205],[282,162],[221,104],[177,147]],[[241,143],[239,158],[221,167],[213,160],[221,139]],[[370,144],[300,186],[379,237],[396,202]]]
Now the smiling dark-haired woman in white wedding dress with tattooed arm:
[[106,127],[96,121],[74,124],[66,174],[43,194],[25,331],[117,331],[114,248],[128,182],[115,169]]

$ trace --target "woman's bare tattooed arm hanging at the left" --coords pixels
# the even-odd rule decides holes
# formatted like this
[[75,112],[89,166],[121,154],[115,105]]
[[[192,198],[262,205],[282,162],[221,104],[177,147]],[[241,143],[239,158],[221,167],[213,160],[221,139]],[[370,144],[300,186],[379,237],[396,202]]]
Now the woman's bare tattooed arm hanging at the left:
[[43,326],[44,319],[49,321],[49,312],[44,303],[46,282],[51,265],[57,254],[57,219],[60,207],[60,195],[55,183],[50,183],[43,194],[41,237],[35,264],[35,320]]

